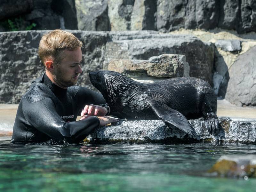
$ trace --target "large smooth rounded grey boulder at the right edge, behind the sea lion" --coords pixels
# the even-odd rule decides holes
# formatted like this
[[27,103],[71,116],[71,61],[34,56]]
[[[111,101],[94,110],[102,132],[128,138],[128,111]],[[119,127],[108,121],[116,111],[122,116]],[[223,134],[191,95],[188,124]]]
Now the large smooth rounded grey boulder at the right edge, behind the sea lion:
[[239,55],[229,69],[225,99],[238,106],[256,106],[256,46]]

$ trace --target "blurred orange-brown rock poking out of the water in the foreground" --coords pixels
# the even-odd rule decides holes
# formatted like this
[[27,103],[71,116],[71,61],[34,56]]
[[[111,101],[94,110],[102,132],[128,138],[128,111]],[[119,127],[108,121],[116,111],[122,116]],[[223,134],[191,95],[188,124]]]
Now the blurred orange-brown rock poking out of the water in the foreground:
[[220,159],[208,171],[212,176],[256,177],[256,156],[221,156]]

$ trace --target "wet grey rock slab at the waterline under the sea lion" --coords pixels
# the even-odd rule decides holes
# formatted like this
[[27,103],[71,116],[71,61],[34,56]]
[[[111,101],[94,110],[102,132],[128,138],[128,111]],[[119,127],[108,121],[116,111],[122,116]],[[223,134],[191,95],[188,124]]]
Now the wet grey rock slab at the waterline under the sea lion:
[[194,136],[168,127],[163,121],[122,121],[116,125],[95,130],[84,141],[87,143],[190,143],[202,141],[225,141],[256,143],[256,119],[233,119],[219,117],[219,131],[210,135],[202,120],[189,120]]

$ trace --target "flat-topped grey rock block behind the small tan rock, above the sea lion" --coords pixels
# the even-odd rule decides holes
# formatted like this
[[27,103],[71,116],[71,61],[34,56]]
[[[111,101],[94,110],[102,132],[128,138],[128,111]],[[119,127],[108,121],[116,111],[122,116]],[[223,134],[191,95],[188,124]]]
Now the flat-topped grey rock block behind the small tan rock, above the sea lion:
[[148,60],[163,53],[184,54],[190,67],[189,75],[212,84],[213,44],[205,44],[190,35],[150,34],[144,37],[108,42],[103,69],[108,69],[112,59]]

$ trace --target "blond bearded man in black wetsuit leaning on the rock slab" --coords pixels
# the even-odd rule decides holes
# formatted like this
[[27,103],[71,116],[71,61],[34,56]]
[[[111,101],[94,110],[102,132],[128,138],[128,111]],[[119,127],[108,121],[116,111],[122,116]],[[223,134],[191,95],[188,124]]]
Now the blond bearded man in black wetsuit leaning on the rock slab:
[[[106,116],[110,108],[101,94],[73,86],[82,73],[82,45],[59,29],[42,37],[38,54],[45,73],[32,81],[20,100],[12,143],[79,143],[95,128],[116,121]],[[82,120],[76,121],[80,114]]]

